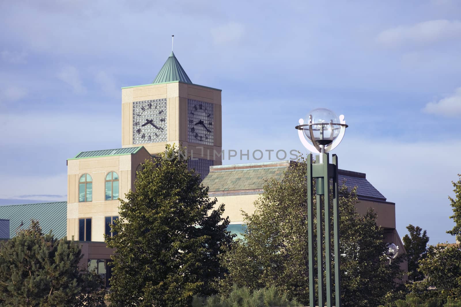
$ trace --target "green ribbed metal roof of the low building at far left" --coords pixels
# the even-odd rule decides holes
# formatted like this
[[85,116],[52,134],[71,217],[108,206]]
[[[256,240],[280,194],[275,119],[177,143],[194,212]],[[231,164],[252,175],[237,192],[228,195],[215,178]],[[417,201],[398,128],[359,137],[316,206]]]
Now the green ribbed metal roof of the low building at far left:
[[0,206],[0,219],[10,220],[10,238],[16,236],[17,230],[29,227],[30,219],[34,219],[43,233],[53,230],[54,237],[60,239],[67,233],[67,202]]

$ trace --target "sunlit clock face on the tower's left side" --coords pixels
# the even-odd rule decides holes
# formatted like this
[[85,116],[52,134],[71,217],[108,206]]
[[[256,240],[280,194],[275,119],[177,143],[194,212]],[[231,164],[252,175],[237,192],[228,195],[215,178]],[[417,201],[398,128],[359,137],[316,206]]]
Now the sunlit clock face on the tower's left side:
[[133,144],[166,142],[166,98],[133,102]]

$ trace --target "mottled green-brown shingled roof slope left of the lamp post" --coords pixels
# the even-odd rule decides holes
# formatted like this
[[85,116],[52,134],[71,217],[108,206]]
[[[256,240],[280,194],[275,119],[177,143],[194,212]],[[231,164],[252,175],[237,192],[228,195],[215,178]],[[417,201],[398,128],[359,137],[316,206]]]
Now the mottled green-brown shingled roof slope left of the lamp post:
[[[225,167],[225,165],[223,165]],[[287,166],[248,168],[237,170],[216,170],[208,173],[202,184],[209,187],[210,192],[238,191],[262,189],[266,180],[282,180]]]

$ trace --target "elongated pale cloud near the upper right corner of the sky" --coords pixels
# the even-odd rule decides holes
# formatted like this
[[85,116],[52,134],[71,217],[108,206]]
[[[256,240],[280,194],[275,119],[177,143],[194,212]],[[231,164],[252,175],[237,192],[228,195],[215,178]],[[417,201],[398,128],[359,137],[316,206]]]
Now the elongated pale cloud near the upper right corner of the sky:
[[440,19],[384,30],[379,33],[376,41],[384,46],[396,47],[432,44],[456,37],[461,37],[461,22]]

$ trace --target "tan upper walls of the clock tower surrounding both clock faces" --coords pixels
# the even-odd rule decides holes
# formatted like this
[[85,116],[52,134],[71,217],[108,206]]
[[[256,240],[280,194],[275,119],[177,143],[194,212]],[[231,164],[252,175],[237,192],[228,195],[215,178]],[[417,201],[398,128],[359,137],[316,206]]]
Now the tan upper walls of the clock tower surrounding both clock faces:
[[[151,99],[167,98],[167,142],[142,144],[151,154],[165,150],[165,145],[179,144],[190,149],[206,147],[220,152],[222,146],[222,111],[221,91],[199,85],[185,84],[180,82],[166,84],[152,84],[141,87],[129,87],[122,89],[122,147],[133,145],[133,102]],[[214,146],[201,145],[187,142],[187,99],[194,99],[214,104]],[[199,151],[194,150],[194,156]],[[203,159],[205,155],[197,155]],[[220,165],[217,160],[215,165]]]

